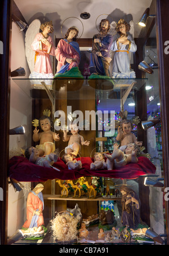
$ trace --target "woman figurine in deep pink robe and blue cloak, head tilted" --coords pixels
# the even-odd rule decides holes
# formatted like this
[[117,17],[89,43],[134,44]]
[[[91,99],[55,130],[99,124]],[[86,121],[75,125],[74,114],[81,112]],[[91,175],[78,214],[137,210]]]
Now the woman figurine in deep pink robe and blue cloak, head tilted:
[[78,67],[81,54],[79,45],[76,42],[78,36],[78,28],[71,27],[65,34],[64,39],[60,39],[55,55],[58,61],[56,73],[64,73],[73,67]]

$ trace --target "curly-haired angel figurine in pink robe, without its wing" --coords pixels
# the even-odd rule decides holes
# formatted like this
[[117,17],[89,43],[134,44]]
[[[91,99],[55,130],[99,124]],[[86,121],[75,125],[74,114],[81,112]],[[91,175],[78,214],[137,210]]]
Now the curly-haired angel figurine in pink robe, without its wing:
[[49,33],[54,31],[52,21],[41,24],[40,29],[42,32],[35,36],[32,43],[32,49],[35,51],[35,65],[34,72],[30,74],[29,78],[53,78],[50,55],[55,56],[55,46],[49,36]]

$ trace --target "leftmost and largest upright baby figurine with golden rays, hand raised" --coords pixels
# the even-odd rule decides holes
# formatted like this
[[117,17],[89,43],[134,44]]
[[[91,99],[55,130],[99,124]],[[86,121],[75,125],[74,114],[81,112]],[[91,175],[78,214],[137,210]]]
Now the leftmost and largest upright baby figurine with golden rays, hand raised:
[[54,142],[58,142],[60,137],[59,134],[51,131],[53,122],[50,117],[42,116],[39,118],[39,125],[43,131],[39,133],[39,129],[37,130],[37,127],[35,127],[33,131],[33,141],[40,141],[40,144],[35,146],[39,150],[39,156],[49,155],[55,151]]

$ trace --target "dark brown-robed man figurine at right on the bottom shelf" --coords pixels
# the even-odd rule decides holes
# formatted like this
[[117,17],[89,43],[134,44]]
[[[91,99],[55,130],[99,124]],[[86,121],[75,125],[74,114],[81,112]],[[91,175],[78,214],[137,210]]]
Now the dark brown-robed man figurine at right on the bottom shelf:
[[133,189],[121,186],[122,193],[122,218],[123,226],[137,228],[140,223],[140,199]]

